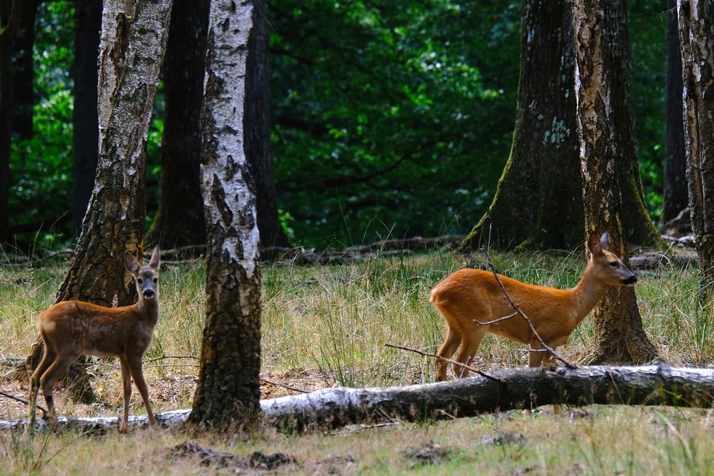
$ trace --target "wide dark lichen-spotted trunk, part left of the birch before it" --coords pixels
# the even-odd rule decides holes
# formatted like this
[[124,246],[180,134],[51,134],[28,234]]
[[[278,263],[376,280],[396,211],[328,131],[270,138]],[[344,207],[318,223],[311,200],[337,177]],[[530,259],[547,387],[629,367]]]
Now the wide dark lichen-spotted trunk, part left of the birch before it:
[[569,0],[522,3],[521,79],[511,156],[461,250],[582,244]]

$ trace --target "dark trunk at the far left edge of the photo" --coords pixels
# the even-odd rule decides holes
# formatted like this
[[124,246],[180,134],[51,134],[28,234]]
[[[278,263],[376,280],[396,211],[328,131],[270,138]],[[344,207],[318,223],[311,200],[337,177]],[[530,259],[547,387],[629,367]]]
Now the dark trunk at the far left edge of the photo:
[[11,57],[23,5],[23,0],[0,0],[0,245],[10,240],[8,189],[13,96]]

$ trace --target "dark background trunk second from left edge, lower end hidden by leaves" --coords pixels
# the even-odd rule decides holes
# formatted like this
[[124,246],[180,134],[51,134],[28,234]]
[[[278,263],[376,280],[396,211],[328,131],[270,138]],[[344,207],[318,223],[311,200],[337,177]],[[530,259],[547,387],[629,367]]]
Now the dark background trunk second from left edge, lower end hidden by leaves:
[[13,117],[12,130],[19,138],[32,137],[35,77],[32,49],[35,43],[35,19],[39,0],[25,0],[20,29],[15,36],[13,54]]

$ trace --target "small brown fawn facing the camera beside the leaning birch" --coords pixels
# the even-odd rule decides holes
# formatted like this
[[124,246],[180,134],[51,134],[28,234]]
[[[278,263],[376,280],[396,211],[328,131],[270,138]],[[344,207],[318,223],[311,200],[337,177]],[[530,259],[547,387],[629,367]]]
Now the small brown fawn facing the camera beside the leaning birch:
[[51,305],[40,313],[37,327],[44,341],[44,356],[30,378],[30,428],[34,428],[35,402],[41,385],[49,417],[57,419],[52,388],[80,355],[119,357],[124,387],[124,418],[119,430],[126,432],[131,399],[131,378],[146,405],[149,423],[156,425],[146,390],[141,358],[151,343],[159,318],[159,247],[154,248],[149,264],[140,267],[130,253],[124,254],[124,265],[134,276],[139,300],[134,305],[105,308],[101,305],[71,300]]

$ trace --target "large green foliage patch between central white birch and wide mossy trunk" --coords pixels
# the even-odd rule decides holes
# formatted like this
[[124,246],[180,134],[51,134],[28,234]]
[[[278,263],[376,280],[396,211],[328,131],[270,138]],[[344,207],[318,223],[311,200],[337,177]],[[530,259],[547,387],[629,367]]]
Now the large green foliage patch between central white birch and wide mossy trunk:
[[518,2],[313,0],[272,11],[276,189],[298,239],[471,226],[510,146]]

